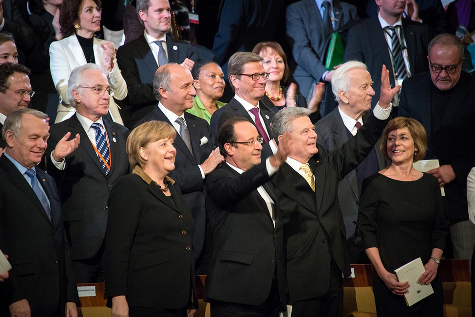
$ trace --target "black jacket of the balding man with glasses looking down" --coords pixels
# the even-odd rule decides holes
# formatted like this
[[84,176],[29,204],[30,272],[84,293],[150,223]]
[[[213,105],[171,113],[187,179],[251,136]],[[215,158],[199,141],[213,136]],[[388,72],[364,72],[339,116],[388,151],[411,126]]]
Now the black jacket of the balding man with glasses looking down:
[[449,164],[456,178],[444,186],[442,197],[445,215],[451,224],[468,219],[467,176],[475,166],[475,79],[462,72],[450,91],[445,113],[432,121],[430,73],[404,80],[400,96],[399,116],[418,120],[427,132],[426,158],[438,158],[440,165]]

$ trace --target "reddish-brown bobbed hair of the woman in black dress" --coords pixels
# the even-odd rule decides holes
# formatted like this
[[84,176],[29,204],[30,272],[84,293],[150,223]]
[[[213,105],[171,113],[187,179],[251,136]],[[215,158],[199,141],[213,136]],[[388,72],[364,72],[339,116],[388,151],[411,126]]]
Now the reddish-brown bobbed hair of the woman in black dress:
[[387,159],[391,159],[388,155],[388,135],[391,131],[402,128],[407,128],[407,130],[411,134],[412,139],[414,140],[414,147],[418,149],[418,151],[414,155],[413,161],[417,162],[418,160],[423,159],[427,152],[427,134],[425,132],[425,129],[418,120],[406,117],[394,118],[389,121],[386,127],[384,128],[384,131],[381,135],[380,145],[382,155]]

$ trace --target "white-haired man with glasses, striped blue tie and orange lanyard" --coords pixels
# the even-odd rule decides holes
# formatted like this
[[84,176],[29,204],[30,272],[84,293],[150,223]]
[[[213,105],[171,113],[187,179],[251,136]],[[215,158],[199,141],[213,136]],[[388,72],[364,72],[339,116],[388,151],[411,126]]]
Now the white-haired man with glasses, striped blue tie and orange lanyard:
[[[75,68],[68,87],[76,113],[51,127],[47,171],[59,188],[77,282],[102,282],[107,199],[115,182],[130,170],[125,152],[129,130],[103,118],[109,110],[111,87],[99,66]],[[55,147],[68,132],[69,139],[80,137],[82,141],[65,156]]]

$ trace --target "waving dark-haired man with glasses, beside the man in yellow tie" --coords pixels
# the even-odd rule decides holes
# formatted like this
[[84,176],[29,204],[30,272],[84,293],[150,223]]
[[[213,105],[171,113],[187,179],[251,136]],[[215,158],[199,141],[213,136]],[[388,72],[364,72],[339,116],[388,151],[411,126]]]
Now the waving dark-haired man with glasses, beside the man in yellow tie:
[[282,137],[277,153],[261,162],[262,141],[242,117],[219,132],[226,162],[206,182],[213,254],[205,300],[213,316],[277,317],[285,309],[282,215],[268,181],[290,140]]

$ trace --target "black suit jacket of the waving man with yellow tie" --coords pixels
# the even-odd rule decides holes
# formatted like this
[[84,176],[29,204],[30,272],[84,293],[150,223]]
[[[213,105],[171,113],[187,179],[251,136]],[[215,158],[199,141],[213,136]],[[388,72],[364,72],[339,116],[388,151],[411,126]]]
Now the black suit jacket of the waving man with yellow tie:
[[368,155],[387,122],[371,114],[356,137],[341,148],[329,152],[317,144],[318,153],[308,161],[315,175],[315,193],[287,163],[272,177],[283,213],[290,302],[328,291],[331,259],[345,277],[349,275],[338,184]]

